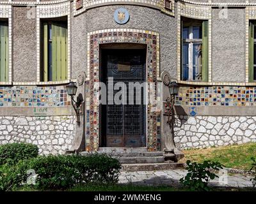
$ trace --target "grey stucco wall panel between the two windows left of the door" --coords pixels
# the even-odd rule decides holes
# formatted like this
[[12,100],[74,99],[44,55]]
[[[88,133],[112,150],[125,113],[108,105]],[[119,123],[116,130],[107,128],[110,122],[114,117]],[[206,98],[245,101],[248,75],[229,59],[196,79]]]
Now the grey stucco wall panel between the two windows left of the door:
[[13,7],[13,81],[36,81],[36,19],[28,8]]

